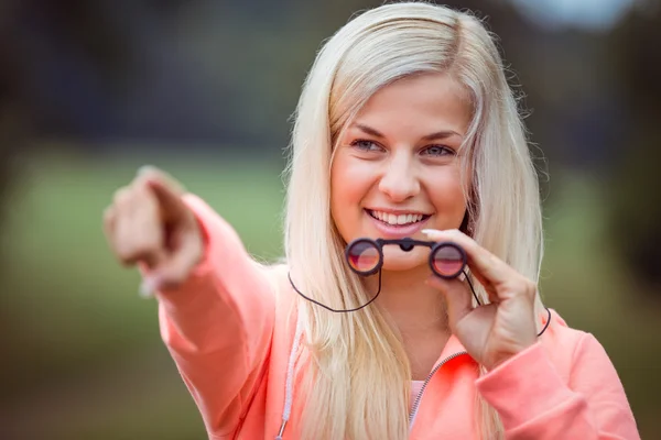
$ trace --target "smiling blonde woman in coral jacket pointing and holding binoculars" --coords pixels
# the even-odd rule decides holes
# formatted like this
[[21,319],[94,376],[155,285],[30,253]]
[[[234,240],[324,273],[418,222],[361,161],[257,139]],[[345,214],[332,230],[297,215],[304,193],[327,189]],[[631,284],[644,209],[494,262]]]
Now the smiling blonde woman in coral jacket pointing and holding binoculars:
[[[537,176],[474,16],[394,3],[342,28],[305,81],[286,200],[271,267],[158,169],[106,212],[210,439],[639,438],[602,345],[539,297]],[[373,258],[347,257],[362,238]],[[435,243],[463,250],[458,276]]]

